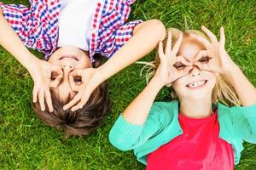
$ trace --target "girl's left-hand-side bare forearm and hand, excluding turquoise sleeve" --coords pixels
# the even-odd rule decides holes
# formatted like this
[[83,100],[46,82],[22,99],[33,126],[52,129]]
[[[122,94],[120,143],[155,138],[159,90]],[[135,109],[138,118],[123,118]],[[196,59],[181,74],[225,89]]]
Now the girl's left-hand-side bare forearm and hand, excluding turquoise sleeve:
[[[158,50],[160,55],[159,68],[157,69],[152,80],[148,83],[148,86],[141,94],[137,96],[136,99],[132,101],[131,105],[125,109],[123,116],[127,122],[131,122],[133,124],[143,124],[148,117],[149,110],[154,102],[154,98],[160,89],[166,84],[170,84],[177,80],[177,78],[183,77],[189,73],[192,68],[191,64],[182,56],[176,56],[182,40],[183,34],[180,34],[176,44],[174,44],[173,48],[171,49],[172,33],[169,31],[165,53],[162,42],[160,42]],[[173,66],[177,62],[182,62],[183,65],[187,65],[187,67],[179,71]]]

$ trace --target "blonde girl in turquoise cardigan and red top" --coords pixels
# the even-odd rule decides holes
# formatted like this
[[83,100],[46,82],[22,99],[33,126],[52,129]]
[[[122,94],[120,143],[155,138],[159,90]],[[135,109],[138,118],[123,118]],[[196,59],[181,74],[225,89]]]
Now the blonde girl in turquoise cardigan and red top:
[[[242,141],[256,143],[256,89],[227,54],[224,28],[219,41],[202,30],[207,37],[168,32],[154,77],[109,134],[113,146],[134,150],[147,169],[233,169]],[[154,102],[165,85],[177,100]]]

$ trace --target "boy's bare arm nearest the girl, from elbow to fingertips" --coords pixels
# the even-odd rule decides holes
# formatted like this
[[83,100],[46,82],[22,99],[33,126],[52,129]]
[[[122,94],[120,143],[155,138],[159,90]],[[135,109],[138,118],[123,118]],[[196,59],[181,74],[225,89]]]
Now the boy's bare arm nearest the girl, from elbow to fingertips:
[[148,20],[137,25],[131,39],[122,48],[119,48],[104,65],[95,69],[92,73],[93,76],[90,77],[86,86],[81,87],[80,93],[64,106],[64,110],[77,103],[79,104],[73,106],[72,111],[82,108],[89,99],[90,94],[100,83],[112,77],[126,66],[131,65],[137,59],[141,59],[152,51],[157,43],[165,37],[166,28],[159,20]]

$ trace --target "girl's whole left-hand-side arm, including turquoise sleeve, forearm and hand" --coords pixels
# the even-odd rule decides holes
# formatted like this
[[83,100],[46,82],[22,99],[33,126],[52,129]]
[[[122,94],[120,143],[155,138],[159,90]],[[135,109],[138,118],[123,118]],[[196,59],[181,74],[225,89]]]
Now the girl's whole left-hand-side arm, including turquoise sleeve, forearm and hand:
[[[179,77],[185,76],[192,68],[183,57],[176,57],[178,48],[182,42],[182,34],[172,50],[171,37],[171,32],[169,32],[165,54],[163,52],[162,42],[160,42],[160,65],[154,77],[148,83],[147,87],[143,89],[143,92],[125,109],[123,115],[119,116],[119,119],[114,123],[109,133],[111,144],[119,148],[119,150],[134,149],[137,144],[146,142],[164,126],[166,121],[164,117],[168,115],[169,111],[168,108],[163,108],[163,105],[153,105],[155,96],[163,86],[172,83]],[[183,70],[177,70],[173,66],[177,62],[182,62],[183,65],[188,66]]]

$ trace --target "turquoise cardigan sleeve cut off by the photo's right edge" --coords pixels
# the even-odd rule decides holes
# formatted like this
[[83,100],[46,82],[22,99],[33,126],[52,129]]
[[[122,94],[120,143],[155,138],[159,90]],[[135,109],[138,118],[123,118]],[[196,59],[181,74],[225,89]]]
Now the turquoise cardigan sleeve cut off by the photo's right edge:
[[230,119],[237,137],[256,144],[256,105],[231,107]]

